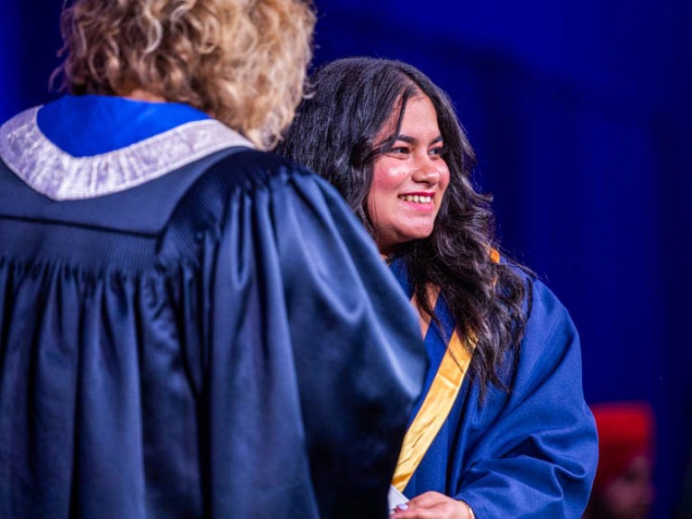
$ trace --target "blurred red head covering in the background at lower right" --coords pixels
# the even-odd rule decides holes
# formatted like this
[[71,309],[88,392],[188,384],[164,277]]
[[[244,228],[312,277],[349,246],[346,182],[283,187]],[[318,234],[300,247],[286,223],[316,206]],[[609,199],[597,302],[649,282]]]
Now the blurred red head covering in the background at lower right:
[[653,457],[654,416],[645,402],[592,405],[598,430],[598,469],[594,490],[624,473],[639,455]]

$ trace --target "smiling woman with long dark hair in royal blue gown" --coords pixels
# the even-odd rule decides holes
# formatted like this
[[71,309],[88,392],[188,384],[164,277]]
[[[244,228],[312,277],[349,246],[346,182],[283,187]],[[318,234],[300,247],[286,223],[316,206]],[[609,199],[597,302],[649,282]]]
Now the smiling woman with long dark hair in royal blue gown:
[[360,217],[431,359],[393,478],[410,500],[392,517],[578,518],[597,458],[578,333],[551,290],[499,254],[451,101],[385,59],[339,59],[310,81],[279,150]]

